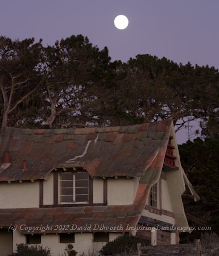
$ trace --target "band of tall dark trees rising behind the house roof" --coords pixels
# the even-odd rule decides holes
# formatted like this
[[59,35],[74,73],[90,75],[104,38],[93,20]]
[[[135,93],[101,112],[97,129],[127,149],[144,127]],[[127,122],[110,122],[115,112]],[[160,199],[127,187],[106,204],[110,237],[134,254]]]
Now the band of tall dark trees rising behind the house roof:
[[219,73],[214,67],[139,54],[111,62],[87,37],[44,47],[0,36],[2,126],[131,125],[172,118],[175,129],[199,120],[219,137]]

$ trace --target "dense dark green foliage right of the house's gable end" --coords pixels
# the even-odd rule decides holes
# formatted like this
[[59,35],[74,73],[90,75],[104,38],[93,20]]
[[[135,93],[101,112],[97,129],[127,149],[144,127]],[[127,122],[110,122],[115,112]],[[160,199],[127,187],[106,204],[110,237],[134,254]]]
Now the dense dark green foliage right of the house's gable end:
[[182,167],[200,201],[185,205],[188,213],[219,230],[219,140],[206,138],[179,145]]

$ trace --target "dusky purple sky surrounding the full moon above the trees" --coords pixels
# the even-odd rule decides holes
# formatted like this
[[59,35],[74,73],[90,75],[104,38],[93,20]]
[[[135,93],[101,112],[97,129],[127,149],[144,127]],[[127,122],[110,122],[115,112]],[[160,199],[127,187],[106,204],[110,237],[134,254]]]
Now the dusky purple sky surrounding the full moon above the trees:
[[[137,54],[219,68],[218,0],[0,0],[0,34],[44,45],[82,34],[112,60]],[[124,14],[127,29],[114,26]],[[186,131],[176,134],[186,141]]]

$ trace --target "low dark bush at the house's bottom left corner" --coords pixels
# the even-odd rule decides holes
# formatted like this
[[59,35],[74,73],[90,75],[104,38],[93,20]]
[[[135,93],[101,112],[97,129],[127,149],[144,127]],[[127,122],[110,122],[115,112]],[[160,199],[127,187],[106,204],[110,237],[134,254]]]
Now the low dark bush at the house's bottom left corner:
[[16,252],[10,256],[51,256],[50,249],[41,245],[17,244]]

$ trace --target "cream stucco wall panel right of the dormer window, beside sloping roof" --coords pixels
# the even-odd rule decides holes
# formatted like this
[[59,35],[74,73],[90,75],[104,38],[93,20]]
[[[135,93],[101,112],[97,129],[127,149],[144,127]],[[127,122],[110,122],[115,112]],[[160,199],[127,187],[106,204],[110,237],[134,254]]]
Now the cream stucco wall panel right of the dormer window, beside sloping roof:
[[108,179],[108,205],[132,204],[136,197],[138,178]]

